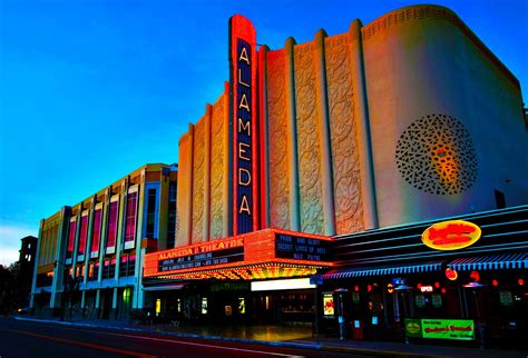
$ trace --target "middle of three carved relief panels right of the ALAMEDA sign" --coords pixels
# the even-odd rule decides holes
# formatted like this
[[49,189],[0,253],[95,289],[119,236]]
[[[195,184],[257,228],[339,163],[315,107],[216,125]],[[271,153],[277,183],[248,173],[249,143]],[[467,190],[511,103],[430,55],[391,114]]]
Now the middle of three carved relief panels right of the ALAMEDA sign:
[[301,230],[323,233],[320,126],[313,43],[294,48]]

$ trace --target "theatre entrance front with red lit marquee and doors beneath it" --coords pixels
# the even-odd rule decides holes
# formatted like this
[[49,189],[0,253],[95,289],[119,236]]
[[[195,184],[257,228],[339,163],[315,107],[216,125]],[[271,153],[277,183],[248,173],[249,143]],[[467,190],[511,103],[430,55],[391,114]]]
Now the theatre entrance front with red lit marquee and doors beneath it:
[[158,320],[312,324],[327,237],[262,230],[146,255],[146,306]]

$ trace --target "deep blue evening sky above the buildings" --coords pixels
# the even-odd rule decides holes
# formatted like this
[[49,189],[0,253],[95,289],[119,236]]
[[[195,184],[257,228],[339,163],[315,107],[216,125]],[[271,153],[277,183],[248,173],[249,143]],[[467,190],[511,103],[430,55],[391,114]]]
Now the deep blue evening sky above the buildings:
[[[228,79],[227,21],[283,48],[418,0],[0,0],[0,263],[20,238],[178,139]],[[438,0],[528,86],[527,0]],[[525,95],[526,98],[526,95]]]

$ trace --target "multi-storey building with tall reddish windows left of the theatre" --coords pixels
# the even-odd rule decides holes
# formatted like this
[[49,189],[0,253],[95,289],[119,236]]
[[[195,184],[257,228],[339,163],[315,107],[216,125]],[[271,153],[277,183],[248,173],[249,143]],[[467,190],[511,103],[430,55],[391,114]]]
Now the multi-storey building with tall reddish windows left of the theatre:
[[30,306],[125,319],[141,307],[146,248],[174,247],[177,166],[145,165],[40,222]]

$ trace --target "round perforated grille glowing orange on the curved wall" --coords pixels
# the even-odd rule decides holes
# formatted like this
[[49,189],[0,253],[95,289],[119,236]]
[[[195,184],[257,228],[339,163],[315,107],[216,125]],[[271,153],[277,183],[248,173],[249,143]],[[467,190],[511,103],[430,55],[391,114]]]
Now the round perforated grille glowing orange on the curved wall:
[[477,179],[471,136],[447,115],[429,115],[410,125],[398,140],[395,159],[405,181],[429,193],[460,193]]

